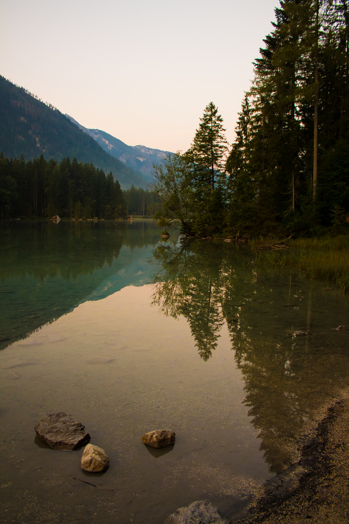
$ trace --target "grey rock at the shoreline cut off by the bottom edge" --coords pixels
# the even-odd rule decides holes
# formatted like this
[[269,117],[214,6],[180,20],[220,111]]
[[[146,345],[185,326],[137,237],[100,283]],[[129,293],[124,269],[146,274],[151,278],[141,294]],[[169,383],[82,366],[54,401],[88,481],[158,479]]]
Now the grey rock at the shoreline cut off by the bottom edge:
[[178,508],[165,524],[229,524],[229,520],[222,517],[216,506],[208,500],[197,500],[189,506]]

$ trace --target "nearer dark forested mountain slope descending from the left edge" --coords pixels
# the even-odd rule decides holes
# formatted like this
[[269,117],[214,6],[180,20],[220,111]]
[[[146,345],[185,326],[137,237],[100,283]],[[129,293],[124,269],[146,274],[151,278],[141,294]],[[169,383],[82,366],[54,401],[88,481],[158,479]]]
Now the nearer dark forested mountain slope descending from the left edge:
[[112,172],[122,189],[147,187],[147,181],[131,167],[106,152],[96,140],[79,129],[56,107],[45,104],[26,89],[0,76],[0,152],[5,157],[26,160],[53,158],[60,162],[76,157]]

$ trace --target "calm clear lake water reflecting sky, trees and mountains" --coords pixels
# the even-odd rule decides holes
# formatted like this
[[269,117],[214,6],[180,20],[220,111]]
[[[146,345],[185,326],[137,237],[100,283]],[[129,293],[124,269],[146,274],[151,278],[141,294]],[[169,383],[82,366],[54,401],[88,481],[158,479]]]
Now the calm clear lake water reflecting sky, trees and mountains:
[[[349,386],[348,296],[248,249],[151,221],[3,222],[0,241],[3,522],[162,524],[202,499],[232,517]],[[36,438],[55,411],[105,473]],[[174,446],[141,442],[165,428]]]

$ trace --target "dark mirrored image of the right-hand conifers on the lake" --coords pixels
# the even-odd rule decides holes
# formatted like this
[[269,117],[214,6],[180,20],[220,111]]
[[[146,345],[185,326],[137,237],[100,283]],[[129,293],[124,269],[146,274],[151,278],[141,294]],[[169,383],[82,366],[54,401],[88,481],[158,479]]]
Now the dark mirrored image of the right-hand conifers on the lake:
[[271,472],[282,471],[297,457],[307,424],[349,385],[349,331],[331,330],[344,323],[348,297],[258,271],[252,254],[231,244],[159,246],[153,256],[153,303],[185,316],[205,361],[226,324],[261,449]]

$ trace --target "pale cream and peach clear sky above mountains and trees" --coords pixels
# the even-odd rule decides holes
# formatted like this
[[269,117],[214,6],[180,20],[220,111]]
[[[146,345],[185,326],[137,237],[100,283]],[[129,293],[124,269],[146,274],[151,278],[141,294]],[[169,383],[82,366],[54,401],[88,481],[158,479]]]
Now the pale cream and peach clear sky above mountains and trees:
[[213,102],[229,143],[278,0],[0,0],[0,74],[130,146],[186,151]]

